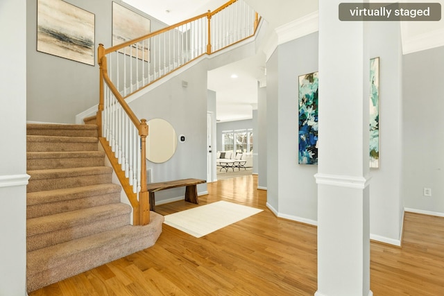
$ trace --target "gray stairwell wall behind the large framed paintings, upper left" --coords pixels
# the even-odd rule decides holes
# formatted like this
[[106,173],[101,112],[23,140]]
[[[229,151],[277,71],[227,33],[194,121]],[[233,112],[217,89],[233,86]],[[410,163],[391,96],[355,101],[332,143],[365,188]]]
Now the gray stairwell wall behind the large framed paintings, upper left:
[[[96,49],[112,45],[112,0],[66,2],[94,13]],[[145,16],[151,31],[165,26]],[[37,51],[37,1],[26,1],[26,28],[27,120],[74,123],[76,114],[99,103],[99,66]]]

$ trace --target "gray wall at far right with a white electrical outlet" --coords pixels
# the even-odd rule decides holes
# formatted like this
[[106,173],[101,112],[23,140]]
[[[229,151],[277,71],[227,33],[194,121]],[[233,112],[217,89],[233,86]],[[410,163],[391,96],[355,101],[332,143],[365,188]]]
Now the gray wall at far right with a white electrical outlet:
[[404,207],[443,215],[444,46],[404,55],[402,64]]

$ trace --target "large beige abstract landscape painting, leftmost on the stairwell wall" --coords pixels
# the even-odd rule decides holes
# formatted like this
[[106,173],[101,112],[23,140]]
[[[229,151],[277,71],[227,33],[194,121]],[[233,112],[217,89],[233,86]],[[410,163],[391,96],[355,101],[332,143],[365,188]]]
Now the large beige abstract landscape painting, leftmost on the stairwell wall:
[[94,66],[93,13],[61,0],[37,0],[37,51]]

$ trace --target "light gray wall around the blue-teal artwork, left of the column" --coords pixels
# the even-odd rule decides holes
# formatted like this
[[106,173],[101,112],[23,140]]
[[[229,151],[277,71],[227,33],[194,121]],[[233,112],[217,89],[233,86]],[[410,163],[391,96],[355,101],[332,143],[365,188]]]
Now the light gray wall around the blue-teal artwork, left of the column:
[[[267,63],[268,199],[282,217],[315,222],[317,166],[298,164],[298,76],[318,71],[318,33],[280,45],[274,55],[278,60]],[[268,81],[271,73],[276,80]]]

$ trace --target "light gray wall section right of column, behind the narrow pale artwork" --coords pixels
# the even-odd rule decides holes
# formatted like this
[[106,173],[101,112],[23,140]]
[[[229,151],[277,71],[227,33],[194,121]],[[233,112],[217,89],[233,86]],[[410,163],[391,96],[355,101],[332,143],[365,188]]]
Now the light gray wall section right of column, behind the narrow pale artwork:
[[[370,58],[379,57],[379,168],[370,169],[371,238],[399,240],[402,227],[402,46],[399,23],[369,21]],[[384,217],[384,218],[381,218]],[[379,236],[379,237],[378,237]],[[394,241],[393,241],[394,243]]]

